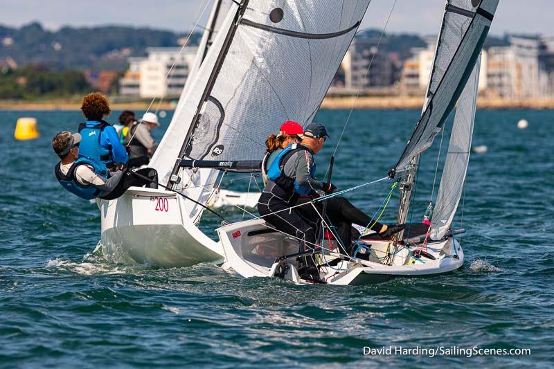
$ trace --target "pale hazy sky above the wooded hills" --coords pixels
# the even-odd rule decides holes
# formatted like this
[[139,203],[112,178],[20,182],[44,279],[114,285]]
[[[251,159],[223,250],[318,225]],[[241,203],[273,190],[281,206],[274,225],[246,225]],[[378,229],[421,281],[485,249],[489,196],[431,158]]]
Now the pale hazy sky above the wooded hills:
[[[213,0],[2,0],[0,24],[39,21],[49,29],[125,24],[184,32],[206,1]],[[372,0],[362,28],[382,28],[393,2]],[[445,0],[397,0],[387,31],[436,34],[444,6]],[[554,35],[553,10],[554,0],[500,0],[490,33]]]

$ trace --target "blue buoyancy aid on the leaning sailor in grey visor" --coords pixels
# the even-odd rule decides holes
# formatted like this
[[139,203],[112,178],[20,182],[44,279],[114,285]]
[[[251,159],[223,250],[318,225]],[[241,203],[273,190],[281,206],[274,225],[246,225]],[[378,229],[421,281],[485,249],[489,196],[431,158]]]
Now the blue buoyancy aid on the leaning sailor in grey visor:
[[100,195],[100,192],[102,192],[100,188],[79,183],[79,181],[75,179],[75,170],[79,165],[89,165],[100,177],[107,178],[108,170],[106,169],[106,165],[104,165],[103,163],[99,163],[98,161],[93,161],[89,158],[85,158],[84,156],[75,160],[73,165],[71,165],[71,168],[69,168],[67,174],[62,173],[60,165],[62,165],[61,161],[55,166],[54,173],[56,175],[57,181],[60,182],[63,188],[85,200],[95,199],[96,197],[98,197],[98,195]]

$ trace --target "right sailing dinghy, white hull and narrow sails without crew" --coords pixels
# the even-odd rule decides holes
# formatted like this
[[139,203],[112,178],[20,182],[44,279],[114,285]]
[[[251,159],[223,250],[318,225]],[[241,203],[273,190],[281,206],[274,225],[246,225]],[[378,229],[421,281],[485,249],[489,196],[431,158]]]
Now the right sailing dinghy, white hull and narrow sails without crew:
[[[454,237],[463,230],[453,230],[451,224],[461,198],[469,161],[479,81],[479,54],[497,5],[498,0],[447,1],[422,116],[400,160],[388,173],[400,183],[397,223],[404,223],[419,155],[433,143],[458,102],[430,226],[410,226],[409,232],[404,231],[404,235],[398,235],[397,240],[361,237],[353,255],[346,255],[346,248],[341,248],[336,241],[323,241],[322,237],[322,246],[312,251],[312,257],[319,264],[319,273],[325,282],[364,285],[397,276],[446,273],[463,264],[463,250]],[[298,240],[291,235],[277,231],[262,219],[230,224],[217,231],[226,255],[225,265],[241,276],[279,277],[296,283],[307,282],[298,278]]]

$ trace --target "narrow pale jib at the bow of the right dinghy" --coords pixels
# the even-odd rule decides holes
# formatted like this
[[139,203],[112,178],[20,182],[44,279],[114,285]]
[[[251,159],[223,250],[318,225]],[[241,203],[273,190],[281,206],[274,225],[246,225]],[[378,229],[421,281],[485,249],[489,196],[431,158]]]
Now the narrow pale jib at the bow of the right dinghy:
[[429,235],[432,240],[440,240],[449,230],[462,196],[467,165],[470,163],[480,65],[481,57],[477,60],[470,80],[467,81],[458,100],[443,176],[440,179],[431,222]]

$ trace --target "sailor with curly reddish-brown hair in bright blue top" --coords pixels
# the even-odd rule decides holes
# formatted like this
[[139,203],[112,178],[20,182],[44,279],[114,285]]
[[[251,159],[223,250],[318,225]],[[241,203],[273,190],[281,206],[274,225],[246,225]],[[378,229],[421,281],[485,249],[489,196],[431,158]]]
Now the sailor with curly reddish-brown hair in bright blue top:
[[80,156],[102,163],[107,168],[129,160],[116,129],[103,118],[110,114],[109,103],[102,93],[92,92],[82,99],[81,111],[87,121],[79,125],[82,136]]

